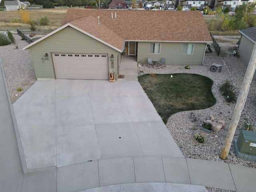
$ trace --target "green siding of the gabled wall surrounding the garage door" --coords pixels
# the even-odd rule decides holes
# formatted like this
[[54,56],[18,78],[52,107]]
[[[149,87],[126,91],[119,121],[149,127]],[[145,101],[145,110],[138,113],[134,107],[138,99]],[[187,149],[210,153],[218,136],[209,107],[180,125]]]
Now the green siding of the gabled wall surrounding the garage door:
[[[36,78],[55,78],[54,66],[51,53],[98,53],[108,54],[108,67],[111,67],[110,56],[114,55],[114,68],[112,71],[117,74],[118,51],[83,34],[82,32],[66,27],[48,38],[32,45],[30,48]],[[48,53],[48,60],[42,62],[45,53]]]

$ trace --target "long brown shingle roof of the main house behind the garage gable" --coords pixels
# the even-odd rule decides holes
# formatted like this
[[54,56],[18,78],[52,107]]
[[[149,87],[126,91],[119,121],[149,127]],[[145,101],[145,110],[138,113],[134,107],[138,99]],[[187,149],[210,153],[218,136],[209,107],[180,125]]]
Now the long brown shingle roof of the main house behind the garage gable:
[[[115,19],[115,14],[116,18]],[[113,15],[113,19],[111,18]],[[200,11],[82,10],[67,11],[62,25],[92,16],[125,40],[210,42]],[[98,20],[97,20],[98,21]],[[100,36],[98,36],[100,38]]]

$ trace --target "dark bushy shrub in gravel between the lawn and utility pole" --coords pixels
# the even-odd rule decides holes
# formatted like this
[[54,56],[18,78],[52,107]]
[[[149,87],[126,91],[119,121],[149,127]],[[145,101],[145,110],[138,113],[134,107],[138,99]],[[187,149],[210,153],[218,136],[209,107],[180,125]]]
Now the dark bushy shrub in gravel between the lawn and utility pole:
[[228,79],[220,86],[220,91],[222,92],[222,95],[226,97],[227,102],[236,102],[235,89],[232,81]]

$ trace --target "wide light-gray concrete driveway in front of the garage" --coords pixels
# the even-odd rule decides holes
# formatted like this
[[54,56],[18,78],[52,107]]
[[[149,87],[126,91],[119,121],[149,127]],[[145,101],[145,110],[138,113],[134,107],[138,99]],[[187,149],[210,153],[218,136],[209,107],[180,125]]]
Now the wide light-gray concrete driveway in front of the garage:
[[138,81],[39,80],[14,104],[27,170],[183,157]]

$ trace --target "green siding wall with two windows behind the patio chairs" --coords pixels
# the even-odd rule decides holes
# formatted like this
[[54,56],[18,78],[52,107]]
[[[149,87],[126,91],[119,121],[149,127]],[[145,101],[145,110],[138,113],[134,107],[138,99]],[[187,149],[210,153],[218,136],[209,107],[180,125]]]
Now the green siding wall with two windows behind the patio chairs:
[[206,43],[193,43],[193,54],[182,54],[183,43],[168,42],[160,43],[160,54],[150,54],[150,43],[154,42],[138,42],[138,62],[146,62],[147,58],[154,61],[165,58],[166,65],[202,65]]

